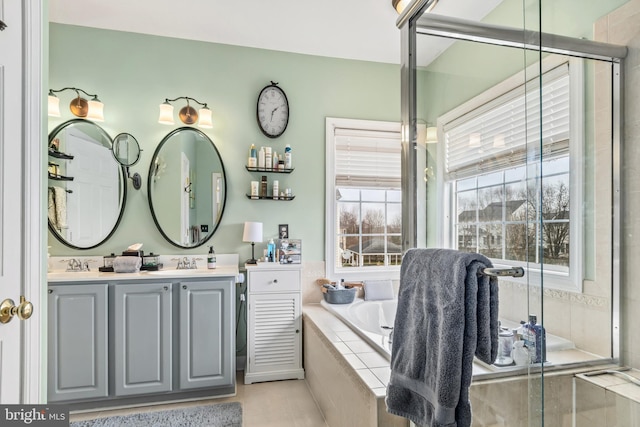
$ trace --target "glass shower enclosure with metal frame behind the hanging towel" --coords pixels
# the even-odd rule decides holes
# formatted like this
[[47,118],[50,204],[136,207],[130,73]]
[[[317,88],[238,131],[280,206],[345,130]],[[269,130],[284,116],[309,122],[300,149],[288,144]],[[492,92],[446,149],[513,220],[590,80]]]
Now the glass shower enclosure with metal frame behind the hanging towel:
[[[545,373],[618,355],[614,112],[624,49],[602,54],[574,39],[576,28],[546,38],[565,3],[502,2],[475,20],[425,14],[400,25],[413,55],[403,56],[404,249],[479,252],[526,272],[499,279],[505,342],[525,347],[476,362],[474,383],[498,380],[472,383],[477,426],[567,423],[571,375]],[[587,9],[576,26],[590,31],[602,7]]]

